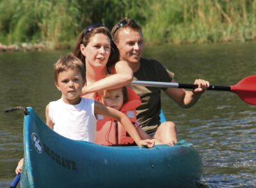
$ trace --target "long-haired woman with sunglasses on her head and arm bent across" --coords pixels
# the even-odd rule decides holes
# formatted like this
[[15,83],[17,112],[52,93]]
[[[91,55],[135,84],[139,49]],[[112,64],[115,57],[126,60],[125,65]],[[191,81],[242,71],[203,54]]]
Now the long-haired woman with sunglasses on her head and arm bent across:
[[79,35],[74,54],[86,67],[84,97],[92,98],[95,92],[120,88],[132,81],[132,70],[126,61],[119,61],[111,38],[108,28],[100,24],[86,27]]

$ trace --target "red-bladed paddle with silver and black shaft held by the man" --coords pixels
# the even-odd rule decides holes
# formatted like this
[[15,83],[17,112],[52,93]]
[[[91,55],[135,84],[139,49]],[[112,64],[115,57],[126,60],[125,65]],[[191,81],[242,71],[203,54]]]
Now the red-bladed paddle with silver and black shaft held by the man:
[[[132,81],[132,85],[151,86],[160,88],[184,88],[195,89],[195,84],[179,84],[177,82],[150,82],[150,81]],[[250,75],[232,86],[214,86],[210,85],[207,90],[230,91],[236,93],[244,102],[256,105],[256,75]]]

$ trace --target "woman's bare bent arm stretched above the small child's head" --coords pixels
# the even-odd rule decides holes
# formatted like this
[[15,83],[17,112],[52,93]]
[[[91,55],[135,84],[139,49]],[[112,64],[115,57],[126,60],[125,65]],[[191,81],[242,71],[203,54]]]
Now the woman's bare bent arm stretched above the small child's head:
[[82,95],[88,93],[94,93],[103,90],[113,90],[121,88],[131,83],[133,72],[126,61],[118,61],[113,67],[111,67],[111,75],[100,79],[90,85],[84,86],[82,89]]

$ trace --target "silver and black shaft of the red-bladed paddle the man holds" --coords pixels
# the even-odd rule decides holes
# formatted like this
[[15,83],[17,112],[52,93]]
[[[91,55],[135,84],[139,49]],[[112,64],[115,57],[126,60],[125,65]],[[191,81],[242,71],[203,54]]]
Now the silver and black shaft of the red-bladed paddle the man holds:
[[[184,88],[184,89],[195,89],[198,87],[196,84],[179,84],[177,82],[151,82],[151,81],[132,81],[132,85],[135,86],[150,86],[159,88]],[[207,90],[217,91],[230,91],[230,86],[214,86],[210,85]]]

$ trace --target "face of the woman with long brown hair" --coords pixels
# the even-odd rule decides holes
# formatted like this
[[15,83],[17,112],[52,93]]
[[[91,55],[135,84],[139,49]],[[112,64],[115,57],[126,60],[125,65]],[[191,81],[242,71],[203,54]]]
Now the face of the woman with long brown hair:
[[92,36],[86,47],[81,45],[81,51],[86,57],[86,65],[105,68],[111,52],[111,43],[108,36],[98,33]]

